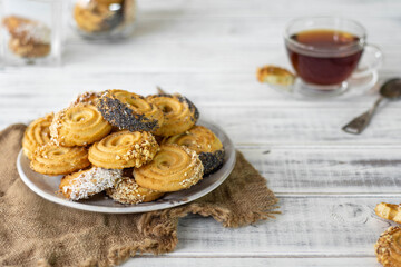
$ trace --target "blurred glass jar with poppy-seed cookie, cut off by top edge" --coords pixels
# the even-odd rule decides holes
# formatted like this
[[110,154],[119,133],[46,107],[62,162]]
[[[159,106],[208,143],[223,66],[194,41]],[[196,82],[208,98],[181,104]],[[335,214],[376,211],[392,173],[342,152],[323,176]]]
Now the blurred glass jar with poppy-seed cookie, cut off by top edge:
[[136,0],[71,0],[71,24],[88,39],[126,38],[134,31]]

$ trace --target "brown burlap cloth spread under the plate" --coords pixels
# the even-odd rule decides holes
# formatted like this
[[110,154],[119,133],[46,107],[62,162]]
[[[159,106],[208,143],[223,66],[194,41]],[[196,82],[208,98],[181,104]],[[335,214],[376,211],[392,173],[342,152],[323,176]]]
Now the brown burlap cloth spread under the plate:
[[187,214],[212,216],[225,227],[238,227],[277,212],[277,199],[266,180],[241,152],[222,186],[177,208],[108,215],[49,202],[26,187],[17,172],[25,128],[13,125],[0,132],[1,266],[113,266],[137,253],[174,250],[178,219]]

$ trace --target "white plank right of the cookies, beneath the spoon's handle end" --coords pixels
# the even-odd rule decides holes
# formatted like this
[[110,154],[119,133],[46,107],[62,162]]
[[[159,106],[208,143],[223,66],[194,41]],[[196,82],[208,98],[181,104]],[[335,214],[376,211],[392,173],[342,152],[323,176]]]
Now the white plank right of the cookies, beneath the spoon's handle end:
[[345,134],[341,127],[365,110],[222,106],[203,110],[203,118],[221,125],[237,145],[400,145],[401,113],[393,105],[381,109],[363,135]]

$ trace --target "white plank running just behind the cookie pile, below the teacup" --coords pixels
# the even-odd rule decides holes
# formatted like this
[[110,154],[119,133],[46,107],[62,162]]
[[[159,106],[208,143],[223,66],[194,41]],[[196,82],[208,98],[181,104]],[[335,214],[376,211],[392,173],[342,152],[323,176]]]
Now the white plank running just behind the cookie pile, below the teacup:
[[[110,88],[120,88],[140,95],[156,92],[156,86],[166,91],[187,96],[196,105],[254,105],[288,107],[353,107],[368,108],[374,101],[375,91],[369,90],[362,96],[331,98],[326,100],[300,101],[267,85],[260,83],[255,77],[256,67],[248,73],[144,73],[144,72],[81,72],[36,70],[35,72],[6,72],[0,79],[0,108],[18,108],[21,99],[23,107],[66,106],[78,93]],[[21,75],[23,79],[21,79]],[[38,79],[38,76],[41,77]],[[381,81],[397,76],[397,71],[381,73]],[[10,90],[12,88],[12,90]],[[359,106],[360,105],[360,106]],[[398,107],[398,105],[392,105]],[[56,106],[55,106],[56,107]]]

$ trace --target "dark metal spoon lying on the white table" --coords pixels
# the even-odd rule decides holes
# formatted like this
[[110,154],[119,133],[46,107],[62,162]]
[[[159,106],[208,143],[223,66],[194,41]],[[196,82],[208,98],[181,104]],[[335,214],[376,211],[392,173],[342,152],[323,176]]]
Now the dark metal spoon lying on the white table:
[[371,121],[374,111],[378,109],[380,102],[384,99],[395,99],[401,97],[401,78],[394,78],[384,82],[380,88],[380,97],[374,102],[373,107],[369,109],[366,112],[360,115],[359,117],[351,120],[348,125],[345,125],[342,130],[348,134],[359,135],[361,134],[369,122]]

